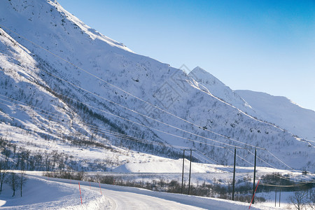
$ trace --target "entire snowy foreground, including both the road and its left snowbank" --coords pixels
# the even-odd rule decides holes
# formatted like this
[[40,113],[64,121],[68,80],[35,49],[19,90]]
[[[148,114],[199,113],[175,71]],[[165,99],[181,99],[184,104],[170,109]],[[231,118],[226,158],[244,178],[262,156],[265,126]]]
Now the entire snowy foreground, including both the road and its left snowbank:
[[[1,209],[245,209],[248,204],[209,197],[154,192],[140,188],[110,186],[29,176],[23,196],[0,197]],[[5,189],[8,190],[8,189]],[[10,192],[11,193],[11,192]],[[101,194],[102,193],[102,194]],[[251,209],[274,209],[254,204]]]

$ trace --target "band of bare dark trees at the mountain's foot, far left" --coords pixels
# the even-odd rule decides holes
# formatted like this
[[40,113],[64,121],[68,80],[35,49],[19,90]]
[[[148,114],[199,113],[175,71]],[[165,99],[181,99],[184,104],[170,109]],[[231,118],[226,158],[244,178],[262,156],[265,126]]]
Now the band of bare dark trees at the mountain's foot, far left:
[[58,151],[31,151],[0,137],[0,162],[3,169],[27,171],[90,170],[105,171],[107,166],[117,165],[111,158],[77,160],[72,155]]

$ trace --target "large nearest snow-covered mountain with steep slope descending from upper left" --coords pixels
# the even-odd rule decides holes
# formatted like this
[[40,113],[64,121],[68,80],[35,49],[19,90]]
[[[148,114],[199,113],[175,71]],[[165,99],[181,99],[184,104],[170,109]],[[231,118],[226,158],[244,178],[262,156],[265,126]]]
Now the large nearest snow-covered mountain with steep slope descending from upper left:
[[193,147],[231,165],[237,146],[238,164],[248,165],[258,147],[267,149],[258,150],[260,166],[315,169],[314,146],[253,118],[218,80],[211,90],[196,72],[137,55],[57,1],[0,1],[0,14],[0,134],[8,141],[90,162],[105,150],[117,164],[130,149],[179,158],[178,147]]

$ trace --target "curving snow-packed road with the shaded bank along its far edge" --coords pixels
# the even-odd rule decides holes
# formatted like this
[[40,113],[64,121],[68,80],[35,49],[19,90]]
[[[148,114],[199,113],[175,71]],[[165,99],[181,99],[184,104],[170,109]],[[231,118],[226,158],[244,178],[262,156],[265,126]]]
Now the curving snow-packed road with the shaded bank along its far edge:
[[[58,182],[73,183],[64,179],[53,179]],[[73,183],[75,185],[76,183]],[[155,192],[141,188],[124,186],[112,186],[99,183],[80,182],[84,190],[95,190],[106,198],[104,209],[248,209],[248,204],[232,202],[210,197],[197,197],[193,195],[181,195],[174,193]],[[91,186],[90,186],[91,185]],[[255,204],[251,209],[274,209]]]

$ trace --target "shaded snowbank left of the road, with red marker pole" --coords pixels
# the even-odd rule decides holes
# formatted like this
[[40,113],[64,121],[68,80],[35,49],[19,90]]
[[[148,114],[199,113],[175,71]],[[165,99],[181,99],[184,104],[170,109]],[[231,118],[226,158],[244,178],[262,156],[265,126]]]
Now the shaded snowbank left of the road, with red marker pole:
[[[99,192],[81,186],[83,205],[80,203],[78,184],[57,183],[28,176],[22,197],[20,191],[15,192],[9,186],[3,186],[0,195],[1,209],[102,209],[109,207],[106,198]],[[72,181],[76,183],[78,181]]]

